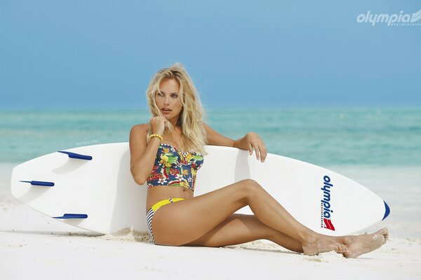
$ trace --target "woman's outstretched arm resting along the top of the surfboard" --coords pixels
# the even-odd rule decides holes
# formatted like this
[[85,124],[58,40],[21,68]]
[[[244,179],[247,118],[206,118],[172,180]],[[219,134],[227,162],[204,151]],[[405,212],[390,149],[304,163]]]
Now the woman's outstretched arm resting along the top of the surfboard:
[[227,146],[239,148],[241,150],[248,150],[250,155],[253,150],[256,152],[256,158],[261,162],[265,162],[267,156],[267,149],[265,143],[260,139],[259,135],[255,132],[248,132],[243,138],[232,140],[228,137],[215,132],[209,125],[205,124],[206,129],[206,142],[209,145]]

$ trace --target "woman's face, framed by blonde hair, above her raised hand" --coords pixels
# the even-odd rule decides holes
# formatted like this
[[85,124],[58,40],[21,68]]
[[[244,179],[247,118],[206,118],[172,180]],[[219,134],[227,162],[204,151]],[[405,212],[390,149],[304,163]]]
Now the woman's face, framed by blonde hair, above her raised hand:
[[155,102],[161,110],[162,116],[171,123],[177,123],[178,116],[182,110],[180,98],[180,85],[178,81],[173,78],[165,78],[159,85],[161,92],[156,92]]

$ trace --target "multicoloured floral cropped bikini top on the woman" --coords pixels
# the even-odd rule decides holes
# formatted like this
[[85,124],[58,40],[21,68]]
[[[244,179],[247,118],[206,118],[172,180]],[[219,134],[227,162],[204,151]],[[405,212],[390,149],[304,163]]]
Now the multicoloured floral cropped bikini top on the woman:
[[203,165],[200,153],[178,151],[171,145],[160,144],[154,169],[147,178],[147,188],[172,186],[194,191],[196,172]]

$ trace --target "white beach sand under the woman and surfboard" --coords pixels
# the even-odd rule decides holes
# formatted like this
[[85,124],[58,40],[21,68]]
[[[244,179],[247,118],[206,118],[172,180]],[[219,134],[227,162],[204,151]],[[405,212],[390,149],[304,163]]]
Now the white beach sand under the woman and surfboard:
[[13,166],[0,164],[1,279],[421,279],[419,169],[334,169],[370,186],[392,209],[368,229],[387,226],[387,244],[346,259],[333,252],[293,253],[270,241],[173,247],[152,244],[147,232],[83,231],[11,197]]

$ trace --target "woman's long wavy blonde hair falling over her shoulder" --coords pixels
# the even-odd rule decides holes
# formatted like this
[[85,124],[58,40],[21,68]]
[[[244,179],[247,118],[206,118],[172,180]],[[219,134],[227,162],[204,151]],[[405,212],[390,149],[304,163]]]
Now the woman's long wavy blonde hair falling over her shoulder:
[[[182,64],[175,63],[168,68],[163,68],[155,74],[146,90],[146,99],[153,117],[163,116],[161,110],[156,105],[156,93],[160,91],[159,85],[163,79],[170,78],[178,81],[180,92],[178,101],[182,105],[177,125],[182,131],[182,143],[187,151],[195,151],[206,154],[204,146],[206,145],[206,130],[203,127],[203,106],[201,105],[199,94],[187,71]],[[171,136],[173,125],[167,122],[164,134]],[[147,133],[147,141],[151,130]],[[181,148],[181,147],[180,147]]]

